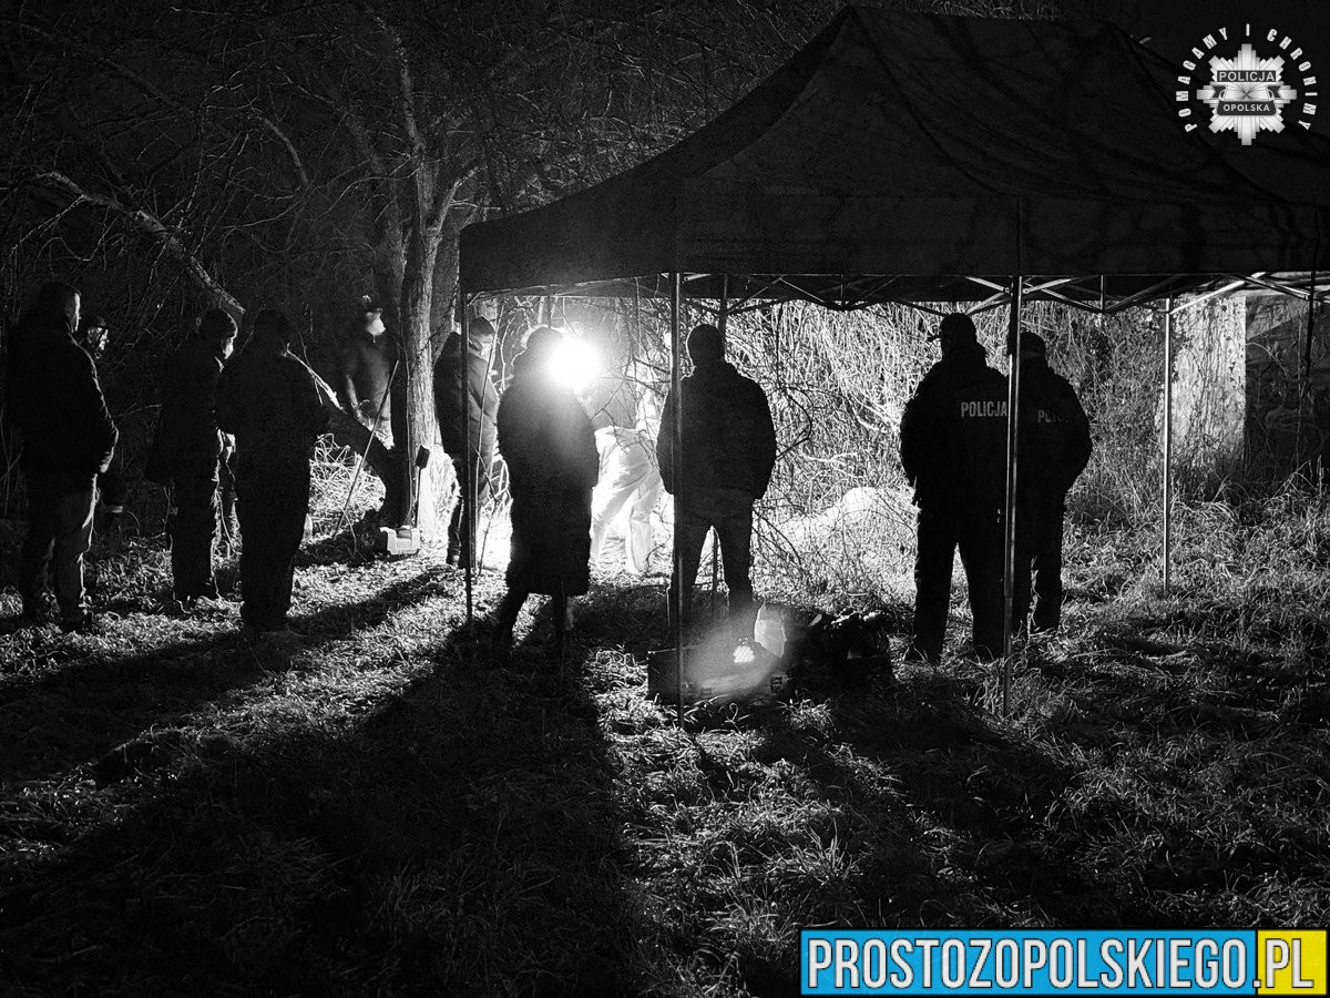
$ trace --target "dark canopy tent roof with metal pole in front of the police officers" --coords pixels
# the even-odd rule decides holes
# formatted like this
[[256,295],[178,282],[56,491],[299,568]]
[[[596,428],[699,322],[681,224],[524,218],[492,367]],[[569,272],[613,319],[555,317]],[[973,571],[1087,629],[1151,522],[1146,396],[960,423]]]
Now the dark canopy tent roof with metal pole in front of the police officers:
[[1186,132],[1180,72],[1103,23],[851,7],[656,158],[464,229],[463,298],[668,291],[677,389],[685,293],[1011,302],[1017,357],[1023,295],[1092,310],[1168,298],[1170,317],[1202,287],[1323,293],[1330,140]]

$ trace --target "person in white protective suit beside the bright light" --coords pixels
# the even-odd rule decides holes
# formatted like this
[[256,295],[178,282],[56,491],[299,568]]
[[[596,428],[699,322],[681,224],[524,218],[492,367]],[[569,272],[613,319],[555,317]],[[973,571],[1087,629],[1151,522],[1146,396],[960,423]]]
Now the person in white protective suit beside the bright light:
[[636,382],[622,374],[596,378],[583,397],[596,428],[600,476],[591,500],[591,563],[602,568],[601,555],[616,522],[625,514],[624,567],[646,571],[652,551],[652,512],[664,484],[656,466],[652,434],[644,424],[644,399]]

